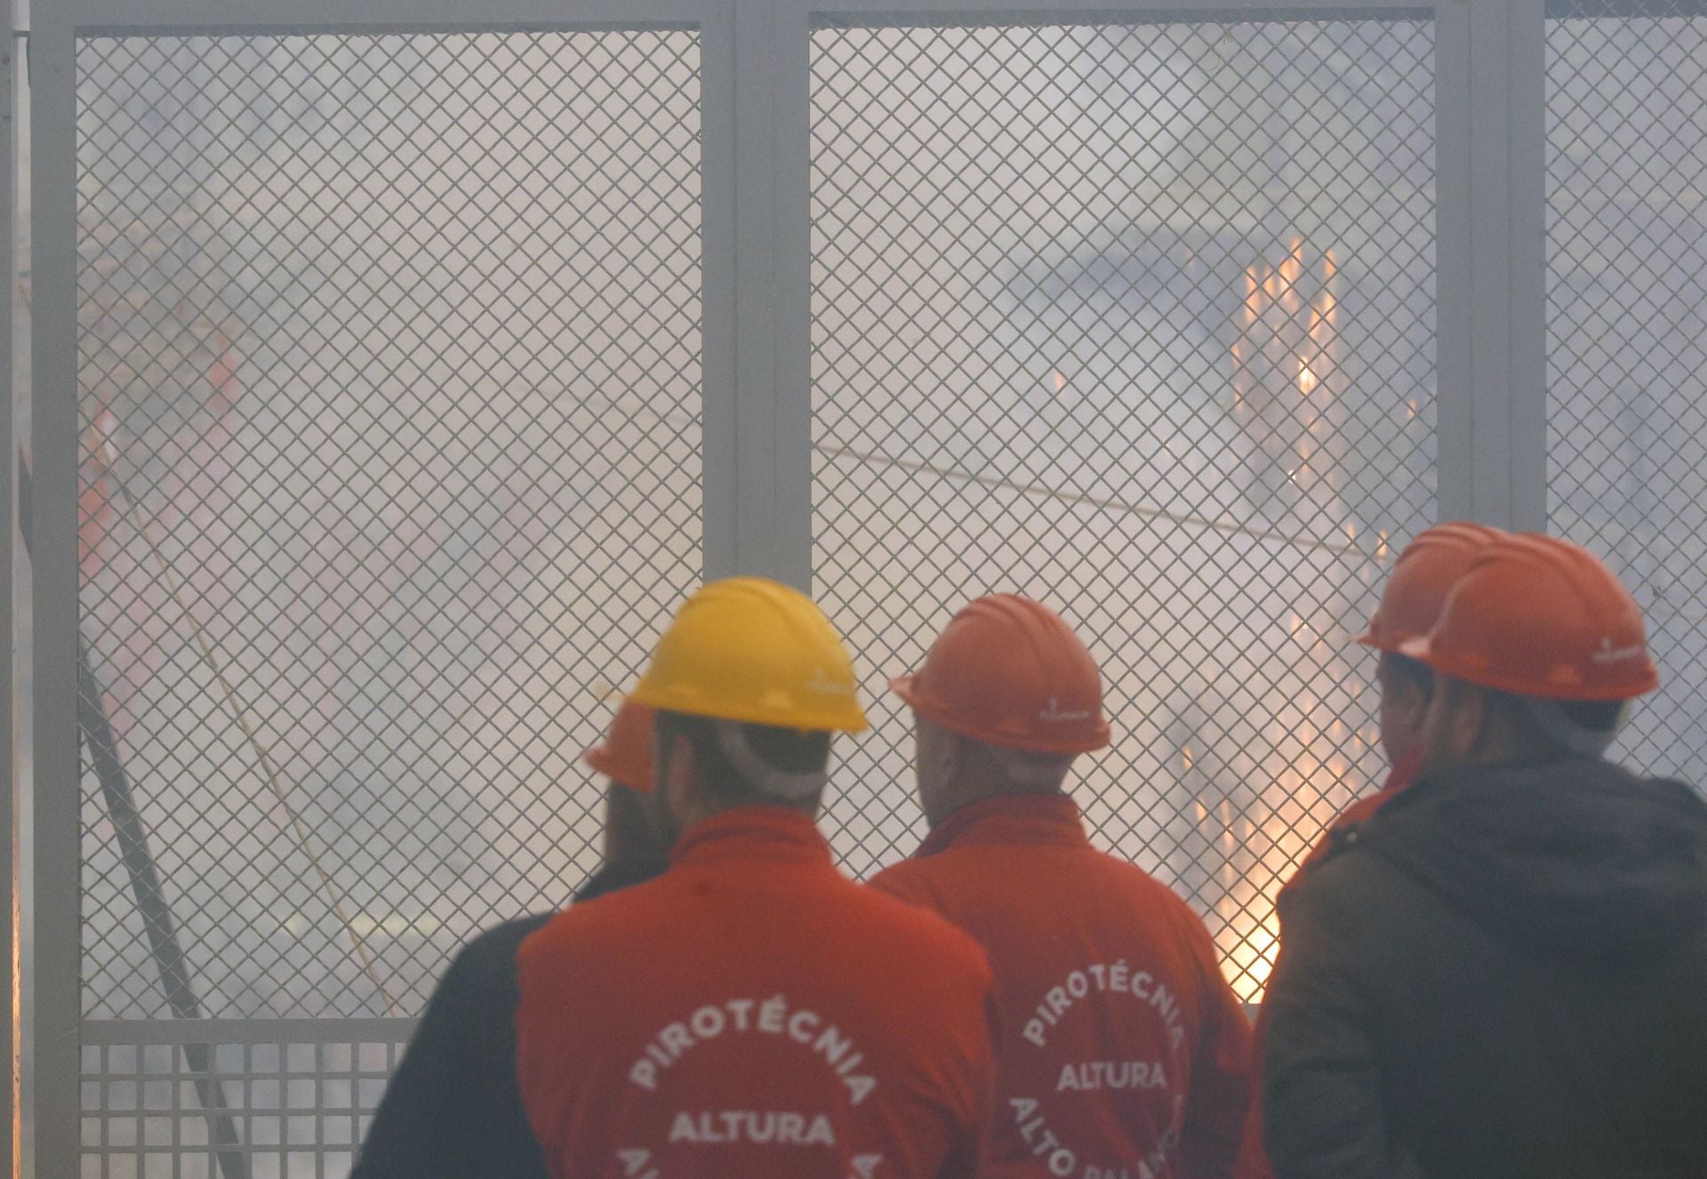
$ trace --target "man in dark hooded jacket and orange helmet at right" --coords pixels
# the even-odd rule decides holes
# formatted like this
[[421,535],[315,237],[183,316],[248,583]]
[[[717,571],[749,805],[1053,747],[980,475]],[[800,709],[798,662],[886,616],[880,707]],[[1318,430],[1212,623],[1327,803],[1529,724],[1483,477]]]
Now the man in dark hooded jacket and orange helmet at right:
[[1589,553],[1483,549],[1429,636],[1417,783],[1282,901],[1282,1179],[1707,1174],[1707,805],[1603,759],[1657,686]]

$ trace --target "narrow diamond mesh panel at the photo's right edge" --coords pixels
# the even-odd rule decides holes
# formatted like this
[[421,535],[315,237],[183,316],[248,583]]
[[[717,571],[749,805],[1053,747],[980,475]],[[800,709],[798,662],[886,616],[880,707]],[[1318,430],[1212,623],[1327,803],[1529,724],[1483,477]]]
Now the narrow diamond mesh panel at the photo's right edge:
[[[1613,756],[1707,783],[1707,17],[1547,29],[1552,527],[1635,592],[1663,688]],[[1669,9],[1669,15],[1668,15]]]

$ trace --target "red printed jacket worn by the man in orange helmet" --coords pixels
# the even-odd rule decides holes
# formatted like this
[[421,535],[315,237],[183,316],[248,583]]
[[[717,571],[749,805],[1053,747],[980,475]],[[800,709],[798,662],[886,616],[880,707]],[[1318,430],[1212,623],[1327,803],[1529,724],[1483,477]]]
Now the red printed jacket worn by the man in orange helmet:
[[1224,1176],[1251,1029],[1198,916],[1063,795],[963,807],[872,886],[976,937],[1002,1039],[983,1176]]

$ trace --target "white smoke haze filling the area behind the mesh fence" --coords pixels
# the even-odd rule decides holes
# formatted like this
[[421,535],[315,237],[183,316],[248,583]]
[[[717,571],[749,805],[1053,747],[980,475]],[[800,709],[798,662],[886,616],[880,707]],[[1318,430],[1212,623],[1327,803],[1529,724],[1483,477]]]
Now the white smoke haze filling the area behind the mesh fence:
[[[1668,688],[1618,756],[1693,781],[1704,36],[1558,20],[1548,58],[1552,524],[1649,611]],[[884,681],[1026,592],[1104,669],[1094,838],[1260,996],[1275,889],[1386,771],[1350,638],[1436,519],[1434,68],[1427,20],[814,32],[814,594],[876,725],[824,816],[852,874],[922,834]],[[79,97],[82,631],[201,1012],[417,1015],[596,865],[579,751],[702,573],[696,39],[94,38]],[[162,1019],[84,788],[84,1015]],[[370,1109],[389,1051],[217,1065]],[[205,1143],[160,1083],[133,1107]]]

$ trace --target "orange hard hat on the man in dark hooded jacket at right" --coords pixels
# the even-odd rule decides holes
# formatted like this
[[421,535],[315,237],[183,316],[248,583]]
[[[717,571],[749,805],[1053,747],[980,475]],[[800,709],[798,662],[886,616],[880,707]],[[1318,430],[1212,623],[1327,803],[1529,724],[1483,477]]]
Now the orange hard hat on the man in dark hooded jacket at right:
[[1588,549],[1536,532],[1485,546],[1434,630],[1400,653],[1543,700],[1630,700],[1659,688],[1630,592]]

